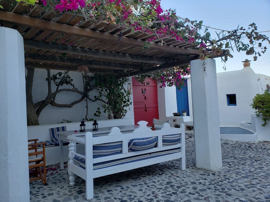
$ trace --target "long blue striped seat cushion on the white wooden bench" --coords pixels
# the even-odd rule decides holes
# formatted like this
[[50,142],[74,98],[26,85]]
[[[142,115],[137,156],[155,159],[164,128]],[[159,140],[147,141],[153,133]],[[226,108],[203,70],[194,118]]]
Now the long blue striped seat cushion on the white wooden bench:
[[[115,159],[115,160],[100,162],[100,163],[94,163],[93,164],[93,170],[97,170],[97,169],[101,169],[101,168],[107,168],[107,167],[110,167],[110,166],[122,165],[122,164],[125,164],[125,163],[141,161],[141,160],[144,160],[144,159],[150,159],[150,158],[154,158],[154,157],[158,157],[158,156],[164,156],[164,155],[173,154],[173,153],[176,153],[176,152],[180,152],[180,148],[168,149],[168,150],[165,150],[165,151],[158,151],[158,152],[153,152],[153,153],[141,154],[141,155],[130,156],[130,157],[121,158],[121,159]],[[85,159],[84,158],[81,158],[79,156],[75,156],[74,164],[76,164],[76,165],[80,166],[81,168],[85,169]]]

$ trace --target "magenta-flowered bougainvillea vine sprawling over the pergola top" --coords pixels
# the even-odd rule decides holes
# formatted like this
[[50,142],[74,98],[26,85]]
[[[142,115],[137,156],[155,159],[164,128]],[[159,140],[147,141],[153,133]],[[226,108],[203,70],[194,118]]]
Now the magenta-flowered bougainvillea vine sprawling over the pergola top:
[[[23,0],[17,0],[23,1]],[[29,4],[38,2],[44,6],[55,8],[60,12],[74,12],[82,14],[87,20],[94,18],[113,23],[118,26],[130,27],[131,33],[141,30],[149,34],[156,34],[147,39],[142,50],[150,47],[150,41],[159,40],[160,44],[165,44],[164,37],[172,37],[179,41],[186,41],[197,44],[195,48],[199,48],[200,58],[204,60],[208,57],[209,52],[214,52],[216,56],[222,54],[225,49],[225,57],[221,58],[226,62],[228,57],[233,57],[231,51],[233,48],[239,51],[246,51],[247,55],[254,54],[254,61],[257,55],[265,53],[266,47],[262,46],[262,41],[270,40],[263,34],[257,32],[255,23],[251,23],[248,28],[237,27],[235,30],[223,30],[217,33],[218,39],[212,39],[208,28],[202,30],[202,21],[191,21],[188,18],[181,18],[176,15],[173,9],[163,10],[160,6],[161,0],[24,0]],[[204,32],[202,32],[204,31]],[[201,34],[204,33],[204,34]],[[248,39],[249,43],[244,43],[243,39]],[[180,70],[181,71],[180,71]],[[170,72],[170,73],[168,73]],[[153,73],[154,74],[154,73]],[[162,83],[162,86],[176,85],[186,72],[184,67],[172,68],[166,71],[160,71],[156,75],[164,77],[156,77]],[[180,78],[181,75],[181,78]],[[142,78],[145,76],[141,76]]]

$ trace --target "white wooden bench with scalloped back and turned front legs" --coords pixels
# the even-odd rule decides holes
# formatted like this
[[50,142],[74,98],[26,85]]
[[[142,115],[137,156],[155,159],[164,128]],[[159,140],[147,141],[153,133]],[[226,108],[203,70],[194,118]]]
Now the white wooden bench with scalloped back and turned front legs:
[[[155,131],[152,131],[146,126],[146,121],[139,121],[138,124],[139,128],[135,129],[133,133],[127,134],[122,134],[119,128],[113,127],[111,132],[105,136],[92,137],[91,132],[87,132],[85,137],[68,135],[67,139],[70,142],[68,162],[70,186],[75,185],[76,175],[85,179],[86,199],[90,200],[94,197],[93,178],[96,177],[123,172],[126,170],[140,168],[178,158],[181,158],[181,170],[185,170],[184,124],[181,124],[180,128],[171,128],[168,123],[164,123],[161,130]],[[178,134],[180,134],[180,137]],[[176,135],[178,135],[179,139],[175,143],[171,145],[166,143],[166,138],[168,141],[170,141],[170,138],[176,137]],[[153,143],[155,147],[146,150],[138,149],[137,151],[131,151],[134,148],[137,149],[136,146],[134,148],[132,147],[132,145],[134,146],[135,144],[134,142],[140,142],[140,140],[134,140],[134,138],[151,139],[151,137],[157,137],[154,138],[157,140],[157,143]],[[93,152],[93,146],[104,145],[112,142],[121,142],[122,152],[120,152],[120,154],[111,154],[103,157],[93,158],[93,155],[97,154],[96,151]],[[74,151],[74,145],[76,143],[85,145],[84,153],[76,153]]]

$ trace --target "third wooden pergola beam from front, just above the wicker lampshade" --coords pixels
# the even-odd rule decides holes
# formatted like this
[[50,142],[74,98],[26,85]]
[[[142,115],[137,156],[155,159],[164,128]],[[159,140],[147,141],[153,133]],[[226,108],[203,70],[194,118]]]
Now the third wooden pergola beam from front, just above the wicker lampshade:
[[52,57],[47,55],[36,55],[36,54],[24,54],[25,60],[38,61],[38,62],[51,62],[58,63],[63,65],[86,65],[88,67],[96,67],[96,68],[109,68],[109,69],[120,69],[120,70],[141,70],[143,67],[137,65],[123,65],[123,64],[114,64],[108,62],[96,62],[90,60],[79,60],[72,58],[63,58],[63,57]]

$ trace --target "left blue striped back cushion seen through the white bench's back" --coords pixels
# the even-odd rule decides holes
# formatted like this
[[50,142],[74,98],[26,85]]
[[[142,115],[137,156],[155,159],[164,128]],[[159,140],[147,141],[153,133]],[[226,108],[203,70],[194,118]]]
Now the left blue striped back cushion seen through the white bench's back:
[[122,142],[110,142],[93,145],[93,158],[122,154]]

